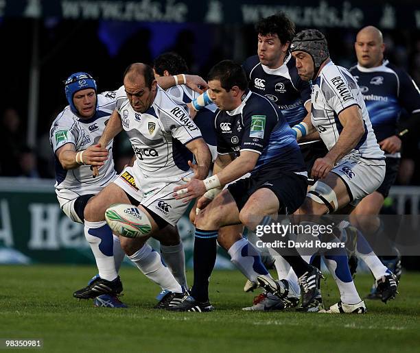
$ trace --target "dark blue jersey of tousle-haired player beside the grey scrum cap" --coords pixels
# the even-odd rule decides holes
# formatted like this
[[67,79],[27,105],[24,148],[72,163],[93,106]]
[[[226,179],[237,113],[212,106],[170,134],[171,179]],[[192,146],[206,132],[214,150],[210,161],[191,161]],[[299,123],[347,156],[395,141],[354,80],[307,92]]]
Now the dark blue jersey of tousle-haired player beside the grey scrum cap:
[[311,87],[301,80],[296,63],[289,53],[283,65],[270,69],[251,56],[242,64],[249,81],[249,88],[264,95],[276,104],[290,126],[300,123],[306,116],[304,104],[311,99]]

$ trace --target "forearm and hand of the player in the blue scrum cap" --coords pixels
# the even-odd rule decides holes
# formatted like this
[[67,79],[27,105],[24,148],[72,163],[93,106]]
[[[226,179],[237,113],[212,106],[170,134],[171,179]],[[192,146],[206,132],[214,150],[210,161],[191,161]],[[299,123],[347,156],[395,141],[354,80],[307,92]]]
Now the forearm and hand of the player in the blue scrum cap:
[[84,151],[76,151],[73,143],[66,143],[56,151],[56,156],[66,170],[76,169],[80,165],[100,167],[108,159],[108,149],[101,145],[87,147]]

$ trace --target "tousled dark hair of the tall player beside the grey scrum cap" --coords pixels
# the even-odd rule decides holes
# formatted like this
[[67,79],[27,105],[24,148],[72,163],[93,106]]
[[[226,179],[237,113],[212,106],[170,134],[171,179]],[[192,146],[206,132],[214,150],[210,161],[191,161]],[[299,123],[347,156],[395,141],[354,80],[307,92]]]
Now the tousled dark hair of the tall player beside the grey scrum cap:
[[294,37],[294,23],[284,12],[277,12],[277,14],[259,20],[255,24],[255,30],[261,36],[277,34],[281,44],[292,42]]

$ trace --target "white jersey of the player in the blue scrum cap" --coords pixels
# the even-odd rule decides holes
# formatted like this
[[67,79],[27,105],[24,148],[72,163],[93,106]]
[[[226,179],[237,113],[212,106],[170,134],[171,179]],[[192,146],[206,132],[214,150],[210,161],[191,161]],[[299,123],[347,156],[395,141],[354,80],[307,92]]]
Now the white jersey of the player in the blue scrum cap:
[[[67,143],[72,143],[76,151],[83,151],[96,145],[104,132],[105,125],[115,109],[115,91],[97,95],[98,108],[91,119],[80,119],[70,106],[60,112],[49,131],[49,141],[54,150],[56,165],[56,194],[59,199],[74,199],[80,195],[99,193],[113,178],[116,172],[113,161],[113,141],[106,148],[109,157],[100,168],[100,175],[92,177],[90,165],[65,170],[56,156],[56,151]],[[62,200],[64,202],[64,200]]]

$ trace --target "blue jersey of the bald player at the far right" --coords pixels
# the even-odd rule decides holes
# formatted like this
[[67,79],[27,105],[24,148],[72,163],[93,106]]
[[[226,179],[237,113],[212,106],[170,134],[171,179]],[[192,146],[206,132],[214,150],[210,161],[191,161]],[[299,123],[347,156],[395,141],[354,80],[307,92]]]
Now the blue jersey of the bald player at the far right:
[[411,77],[384,60],[382,65],[349,69],[360,86],[377,141],[397,134],[401,110],[420,112],[420,92]]

